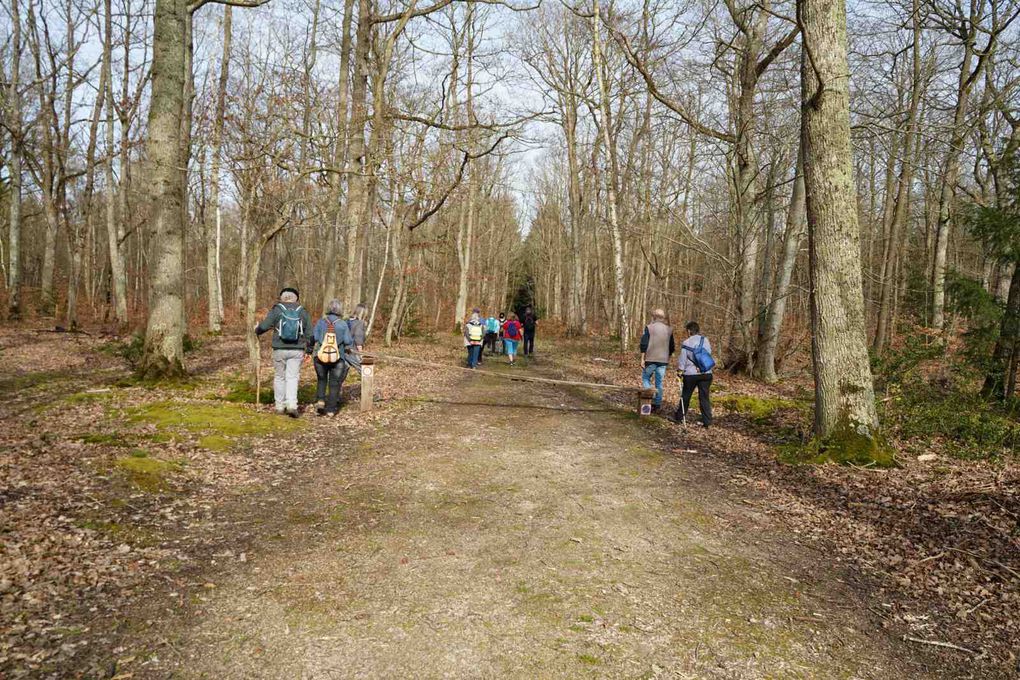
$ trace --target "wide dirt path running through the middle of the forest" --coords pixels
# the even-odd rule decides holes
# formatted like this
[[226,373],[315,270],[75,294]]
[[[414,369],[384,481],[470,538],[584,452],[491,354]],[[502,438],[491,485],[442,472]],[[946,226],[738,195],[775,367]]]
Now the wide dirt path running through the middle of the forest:
[[924,677],[817,554],[654,425],[508,384],[467,379],[348,442],[149,672]]

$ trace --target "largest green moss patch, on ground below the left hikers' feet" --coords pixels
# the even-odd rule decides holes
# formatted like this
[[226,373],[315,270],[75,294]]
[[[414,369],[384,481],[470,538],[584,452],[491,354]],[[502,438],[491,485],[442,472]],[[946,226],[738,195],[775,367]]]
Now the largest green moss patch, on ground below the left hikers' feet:
[[300,420],[216,402],[155,402],[131,409],[128,420],[200,435],[199,446],[213,451],[230,449],[240,437],[288,433],[302,427]]

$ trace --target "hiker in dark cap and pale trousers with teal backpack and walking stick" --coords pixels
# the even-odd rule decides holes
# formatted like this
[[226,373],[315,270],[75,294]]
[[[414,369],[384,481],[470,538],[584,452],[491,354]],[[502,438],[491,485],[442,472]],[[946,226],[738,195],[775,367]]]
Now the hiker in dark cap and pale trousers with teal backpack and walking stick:
[[312,319],[298,304],[297,289],[279,292],[279,302],[272,306],[255,334],[272,330],[272,367],[275,372],[272,395],[276,413],[298,417],[298,379],[301,362],[312,353]]

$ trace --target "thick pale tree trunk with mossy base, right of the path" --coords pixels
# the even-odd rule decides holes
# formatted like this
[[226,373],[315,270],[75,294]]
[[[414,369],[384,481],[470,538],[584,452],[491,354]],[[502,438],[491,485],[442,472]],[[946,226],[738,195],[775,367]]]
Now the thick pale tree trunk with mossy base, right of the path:
[[799,11],[815,434],[835,447],[874,447],[878,417],[850,142],[847,7],[845,0],[800,0]]

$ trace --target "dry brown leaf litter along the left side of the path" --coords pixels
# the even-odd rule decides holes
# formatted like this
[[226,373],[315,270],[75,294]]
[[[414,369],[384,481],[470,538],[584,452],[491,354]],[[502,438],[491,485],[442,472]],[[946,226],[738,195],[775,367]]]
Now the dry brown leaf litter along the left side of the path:
[[[345,409],[326,420],[309,411],[298,434],[245,439],[227,454],[198,446],[197,434],[167,438],[122,415],[153,402],[214,400],[241,375],[241,338],[206,341],[190,356],[197,386],[187,389],[118,386],[130,372],[103,351],[111,339],[0,331],[0,677],[106,674],[90,664],[110,657],[123,612],[154,587],[170,584],[182,597],[202,567],[243,558],[237,546],[250,536],[222,512],[232,502],[285,485],[337,453],[323,441],[356,440],[364,428],[407,417],[410,400],[456,379],[385,365],[381,404],[370,415]],[[454,342],[402,352],[447,363],[460,357]],[[263,359],[271,374],[268,352]],[[304,370],[302,381],[314,382],[311,367]],[[346,399],[356,404],[352,382]],[[342,436],[323,437],[323,429]],[[174,465],[158,488],[136,487],[114,465],[137,447]]]

